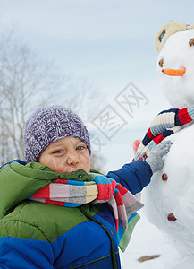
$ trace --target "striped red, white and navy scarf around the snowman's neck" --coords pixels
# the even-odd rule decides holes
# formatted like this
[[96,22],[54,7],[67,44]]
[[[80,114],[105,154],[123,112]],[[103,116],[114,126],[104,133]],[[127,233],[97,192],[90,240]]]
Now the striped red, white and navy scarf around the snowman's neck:
[[145,160],[150,150],[165,137],[174,134],[194,119],[194,105],[189,108],[171,108],[160,112],[151,122],[148,132],[144,136],[133,161]]

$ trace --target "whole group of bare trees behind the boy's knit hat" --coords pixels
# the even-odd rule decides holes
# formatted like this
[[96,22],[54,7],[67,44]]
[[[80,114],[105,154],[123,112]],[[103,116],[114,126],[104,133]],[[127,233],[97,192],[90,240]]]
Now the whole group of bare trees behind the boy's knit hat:
[[23,128],[35,109],[61,104],[89,121],[103,99],[91,83],[72,81],[12,35],[4,40],[6,44],[0,37],[0,164],[23,159]]

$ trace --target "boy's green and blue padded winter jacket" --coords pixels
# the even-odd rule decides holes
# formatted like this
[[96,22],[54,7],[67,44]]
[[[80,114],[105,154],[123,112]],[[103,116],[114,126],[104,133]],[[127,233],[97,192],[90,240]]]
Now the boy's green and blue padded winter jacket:
[[[148,184],[152,173],[148,164],[134,162],[122,175],[134,187],[135,179],[137,186],[140,180]],[[28,199],[58,178],[91,180],[81,169],[55,173],[38,162],[13,161],[0,169],[0,268],[121,268],[114,216],[106,204],[69,208]],[[139,216],[132,217],[135,225]]]

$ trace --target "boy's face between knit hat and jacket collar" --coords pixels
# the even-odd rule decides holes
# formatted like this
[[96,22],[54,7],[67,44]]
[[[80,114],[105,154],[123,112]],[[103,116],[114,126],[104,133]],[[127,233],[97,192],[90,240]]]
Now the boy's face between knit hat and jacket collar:
[[83,169],[89,174],[90,157],[86,143],[73,136],[50,143],[38,162],[58,173],[72,173]]

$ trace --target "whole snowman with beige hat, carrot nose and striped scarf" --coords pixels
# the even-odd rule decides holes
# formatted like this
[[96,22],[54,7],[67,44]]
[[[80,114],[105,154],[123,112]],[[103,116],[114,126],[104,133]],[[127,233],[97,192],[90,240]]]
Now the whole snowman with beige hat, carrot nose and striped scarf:
[[155,47],[157,73],[174,109],[151,123],[135,160],[163,139],[172,141],[164,168],[153,176],[143,199],[148,220],[181,250],[194,254],[194,26],[165,24],[156,35]]

